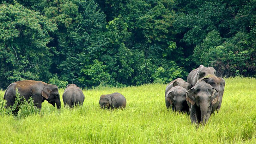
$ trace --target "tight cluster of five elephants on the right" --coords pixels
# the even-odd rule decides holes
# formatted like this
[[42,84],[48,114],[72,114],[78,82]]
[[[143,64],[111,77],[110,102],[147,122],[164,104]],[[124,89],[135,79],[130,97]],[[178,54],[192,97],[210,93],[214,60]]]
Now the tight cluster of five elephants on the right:
[[165,104],[173,111],[189,113],[191,123],[205,124],[214,111],[219,111],[225,80],[216,76],[213,67],[200,65],[192,70],[187,82],[171,81],[165,89]]

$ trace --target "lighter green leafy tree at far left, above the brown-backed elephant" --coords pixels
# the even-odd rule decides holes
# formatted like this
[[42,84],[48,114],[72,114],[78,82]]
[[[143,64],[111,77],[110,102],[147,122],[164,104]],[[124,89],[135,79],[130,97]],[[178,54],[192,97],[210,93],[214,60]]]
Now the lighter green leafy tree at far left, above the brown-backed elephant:
[[22,79],[48,80],[53,55],[46,45],[56,25],[18,3],[0,6],[0,25],[0,86]]

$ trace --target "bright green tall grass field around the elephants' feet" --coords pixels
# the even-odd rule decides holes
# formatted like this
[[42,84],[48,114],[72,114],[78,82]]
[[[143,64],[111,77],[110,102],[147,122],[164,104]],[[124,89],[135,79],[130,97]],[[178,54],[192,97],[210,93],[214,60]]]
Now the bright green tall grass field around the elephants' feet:
[[[0,143],[256,143],[256,79],[227,78],[222,107],[204,127],[165,107],[164,84],[84,90],[82,107],[0,116]],[[122,93],[124,110],[101,110],[101,94]],[[0,91],[3,98],[4,91]]]

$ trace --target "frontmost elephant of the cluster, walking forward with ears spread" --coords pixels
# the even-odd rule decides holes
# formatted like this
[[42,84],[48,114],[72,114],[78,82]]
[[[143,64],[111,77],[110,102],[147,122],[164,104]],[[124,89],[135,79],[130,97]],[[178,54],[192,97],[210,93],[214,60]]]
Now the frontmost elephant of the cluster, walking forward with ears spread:
[[186,96],[191,123],[205,124],[219,105],[219,93],[205,81],[197,83]]

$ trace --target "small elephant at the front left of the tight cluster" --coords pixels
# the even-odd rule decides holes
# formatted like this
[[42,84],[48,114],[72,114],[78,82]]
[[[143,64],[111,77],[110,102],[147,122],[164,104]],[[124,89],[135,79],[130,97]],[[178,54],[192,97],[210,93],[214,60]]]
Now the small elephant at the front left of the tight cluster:
[[183,87],[172,87],[165,96],[165,105],[167,108],[172,108],[173,111],[186,112],[189,111],[189,106],[186,101],[187,90]]

